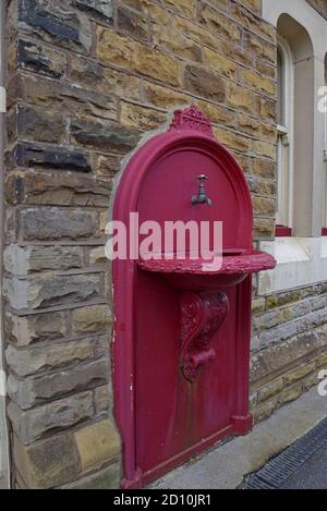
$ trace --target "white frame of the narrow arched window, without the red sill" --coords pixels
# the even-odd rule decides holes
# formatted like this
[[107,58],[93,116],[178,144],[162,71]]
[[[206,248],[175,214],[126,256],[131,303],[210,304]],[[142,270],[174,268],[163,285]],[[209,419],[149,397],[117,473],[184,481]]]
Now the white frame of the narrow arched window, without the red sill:
[[293,150],[294,150],[294,66],[289,42],[278,36],[277,45],[283,64],[284,125],[277,125],[277,224],[293,227]]

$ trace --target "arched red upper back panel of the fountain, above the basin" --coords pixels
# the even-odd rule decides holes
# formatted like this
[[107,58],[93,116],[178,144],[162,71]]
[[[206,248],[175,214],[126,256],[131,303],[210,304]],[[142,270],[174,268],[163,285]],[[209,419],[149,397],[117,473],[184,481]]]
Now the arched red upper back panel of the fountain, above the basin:
[[[199,174],[207,177],[211,206],[192,204]],[[243,172],[195,106],[177,110],[168,131],[150,138],[130,159],[117,191],[113,219],[129,224],[131,211],[138,212],[140,223],[222,221],[223,250],[252,251],[253,210]]]

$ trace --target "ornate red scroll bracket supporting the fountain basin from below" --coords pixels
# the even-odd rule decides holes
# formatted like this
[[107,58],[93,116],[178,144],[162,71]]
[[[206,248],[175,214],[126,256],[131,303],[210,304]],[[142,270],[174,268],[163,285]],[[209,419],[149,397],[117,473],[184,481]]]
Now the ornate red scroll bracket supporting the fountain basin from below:
[[216,293],[184,292],[181,296],[181,368],[185,379],[194,382],[203,365],[213,361],[210,341],[229,313],[222,291]]

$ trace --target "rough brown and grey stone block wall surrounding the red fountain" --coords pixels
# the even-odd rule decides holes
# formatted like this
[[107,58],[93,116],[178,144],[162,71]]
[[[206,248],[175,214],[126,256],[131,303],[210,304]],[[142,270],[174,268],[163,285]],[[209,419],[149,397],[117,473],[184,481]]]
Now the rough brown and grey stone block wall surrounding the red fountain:
[[[4,292],[13,484],[116,487],[113,312],[104,257],[112,179],[144,132],[160,126],[175,107],[196,104],[244,170],[255,239],[271,239],[276,34],[261,19],[259,0],[10,0],[7,27]],[[311,308],[294,318],[299,331],[288,333],[282,296],[254,302],[257,418],[286,396],[295,398],[298,380],[301,391],[307,387],[311,356],[322,362],[324,332],[315,320],[324,318],[314,294],[301,293],[296,317],[301,307]],[[303,365],[310,370],[300,379],[286,379]],[[268,385],[283,398],[269,394]]]

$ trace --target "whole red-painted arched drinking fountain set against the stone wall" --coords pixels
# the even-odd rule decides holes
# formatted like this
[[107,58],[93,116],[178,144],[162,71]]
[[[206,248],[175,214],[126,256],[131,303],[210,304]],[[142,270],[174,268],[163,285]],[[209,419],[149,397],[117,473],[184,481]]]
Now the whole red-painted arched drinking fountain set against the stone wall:
[[[202,172],[209,178],[213,207],[192,205],[198,187],[194,178]],[[113,220],[129,226],[132,211],[140,214],[140,222],[223,221],[223,261],[216,275],[202,271],[201,260],[112,263],[122,486],[140,488],[225,436],[252,427],[251,273],[274,267],[275,260],[252,252],[252,202],[243,173],[195,107],[178,111],[170,130],[130,160],[118,186]],[[203,349],[195,345],[191,364],[196,377],[191,381],[183,374],[189,353],[182,348],[181,303],[187,292],[202,301],[204,323],[195,330],[207,333]],[[219,296],[222,308],[216,307]],[[207,309],[210,304],[215,312]]]

